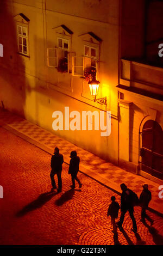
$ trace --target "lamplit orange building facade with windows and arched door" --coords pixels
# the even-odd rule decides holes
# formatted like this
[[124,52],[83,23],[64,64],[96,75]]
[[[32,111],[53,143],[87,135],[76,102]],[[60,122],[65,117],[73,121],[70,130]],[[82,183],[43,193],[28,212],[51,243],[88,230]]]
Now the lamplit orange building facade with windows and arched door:
[[[149,33],[152,19],[162,26],[162,2],[1,0],[1,6],[2,106],[122,168],[162,180],[162,39],[161,32]],[[90,77],[100,82],[97,98],[106,97],[106,105],[93,101]],[[63,113],[65,125],[65,107],[80,113],[81,124],[83,111],[105,117],[110,111],[110,136],[95,129],[94,115],[92,130],[54,131],[53,112]]]

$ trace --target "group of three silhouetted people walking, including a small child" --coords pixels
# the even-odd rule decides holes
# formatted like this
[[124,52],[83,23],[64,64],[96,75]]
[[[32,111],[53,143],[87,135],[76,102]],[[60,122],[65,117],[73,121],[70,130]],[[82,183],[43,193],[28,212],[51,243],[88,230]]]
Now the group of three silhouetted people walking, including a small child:
[[[117,226],[121,229],[122,224],[124,221],[124,216],[126,212],[129,212],[130,218],[133,222],[133,231],[134,233],[137,232],[137,224],[134,217],[134,206],[140,205],[141,206],[141,221],[145,222],[145,218],[153,224],[153,220],[146,214],[146,209],[148,208],[148,204],[152,199],[151,191],[148,190],[148,185],[143,185],[143,191],[140,194],[140,199],[137,197],[136,193],[130,190],[124,183],[121,184],[121,216],[120,221],[117,222]],[[108,216],[111,216],[111,223],[113,233],[117,233],[117,226],[115,223],[115,219],[118,217],[118,211],[120,209],[120,205],[116,202],[115,197],[111,197],[112,203],[109,205],[108,208]]]

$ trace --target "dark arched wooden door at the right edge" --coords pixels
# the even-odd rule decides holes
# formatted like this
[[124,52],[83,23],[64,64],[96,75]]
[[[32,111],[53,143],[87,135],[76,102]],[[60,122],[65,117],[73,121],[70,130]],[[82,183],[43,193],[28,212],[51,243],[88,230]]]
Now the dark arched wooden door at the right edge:
[[140,149],[141,168],[156,178],[163,180],[163,132],[154,120],[148,120],[142,129]]

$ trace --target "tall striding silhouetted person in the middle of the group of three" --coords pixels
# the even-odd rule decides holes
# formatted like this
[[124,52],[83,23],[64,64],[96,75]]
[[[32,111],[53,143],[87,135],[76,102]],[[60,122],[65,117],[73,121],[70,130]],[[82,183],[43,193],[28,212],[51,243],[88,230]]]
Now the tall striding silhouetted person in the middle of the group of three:
[[121,217],[120,221],[118,221],[117,225],[119,228],[122,228],[122,224],[124,221],[124,215],[126,214],[127,211],[129,211],[130,218],[133,222],[133,231],[136,233],[137,232],[137,225],[136,225],[136,220],[134,217],[134,200],[137,197],[137,195],[127,188],[127,186],[122,183],[121,184]]

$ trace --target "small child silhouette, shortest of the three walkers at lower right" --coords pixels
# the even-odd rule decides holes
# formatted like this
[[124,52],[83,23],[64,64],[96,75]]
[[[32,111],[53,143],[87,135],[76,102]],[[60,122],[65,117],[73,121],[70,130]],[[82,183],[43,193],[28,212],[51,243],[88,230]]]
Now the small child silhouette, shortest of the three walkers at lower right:
[[117,233],[117,227],[115,223],[115,219],[118,217],[118,211],[120,210],[120,205],[116,202],[116,198],[114,196],[111,197],[112,203],[109,205],[108,208],[108,216],[111,217],[111,224],[112,224],[112,232],[115,234]]

